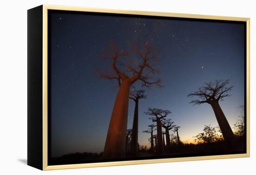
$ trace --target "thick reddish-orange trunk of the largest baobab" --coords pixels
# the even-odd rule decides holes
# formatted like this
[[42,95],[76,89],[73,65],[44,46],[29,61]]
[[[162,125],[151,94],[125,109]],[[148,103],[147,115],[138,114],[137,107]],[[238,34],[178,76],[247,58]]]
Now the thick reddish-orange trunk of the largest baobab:
[[126,131],[130,82],[122,81],[108,126],[103,158],[123,158],[125,156]]

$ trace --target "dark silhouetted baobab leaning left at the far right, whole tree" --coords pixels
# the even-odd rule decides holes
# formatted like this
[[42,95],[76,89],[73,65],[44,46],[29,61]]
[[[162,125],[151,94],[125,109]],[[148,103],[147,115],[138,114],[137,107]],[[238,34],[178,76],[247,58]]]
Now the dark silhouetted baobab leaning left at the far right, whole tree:
[[234,143],[234,133],[222,111],[221,106],[219,105],[219,101],[223,100],[225,97],[229,97],[229,92],[232,88],[233,86],[229,86],[229,80],[216,80],[215,82],[209,81],[205,82],[205,85],[199,88],[198,91],[188,95],[198,97],[197,100],[192,100],[190,103],[195,105],[208,103],[212,106],[217,122],[222,131],[223,138],[229,143],[229,145]]

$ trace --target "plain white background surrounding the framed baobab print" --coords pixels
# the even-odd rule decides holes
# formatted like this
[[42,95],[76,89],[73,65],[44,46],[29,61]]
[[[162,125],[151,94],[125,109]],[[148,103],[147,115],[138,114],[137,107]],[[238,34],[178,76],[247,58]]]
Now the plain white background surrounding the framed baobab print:
[[[251,18],[251,157],[47,172],[27,166],[27,9],[41,4]],[[255,174],[255,7],[254,0],[2,0],[0,10],[0,174]]]

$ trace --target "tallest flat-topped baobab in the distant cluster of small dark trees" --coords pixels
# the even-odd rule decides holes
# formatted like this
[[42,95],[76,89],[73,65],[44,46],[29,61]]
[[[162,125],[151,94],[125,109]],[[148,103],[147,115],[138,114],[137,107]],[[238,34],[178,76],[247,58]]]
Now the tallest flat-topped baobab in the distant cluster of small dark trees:
[[145,112],[145,114],[154,116],[149,119],[151,119],[153,122],[156,122],[156,131],[157,131],[157,152],[159,154],[163,153],[163,141],[162,141],[162,125],[161,121],[165,117],[167,117],[168,114],[171,112],[169,110],[162,110],[157,108],[148,108],[148,112]]

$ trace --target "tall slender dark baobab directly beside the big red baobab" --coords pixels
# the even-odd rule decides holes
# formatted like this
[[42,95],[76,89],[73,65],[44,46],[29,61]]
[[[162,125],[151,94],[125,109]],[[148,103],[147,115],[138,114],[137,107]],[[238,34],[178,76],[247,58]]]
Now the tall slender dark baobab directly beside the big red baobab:
[[133,90],[130,93],[130,99],[135,102],[134,118],[133,118],[133,132],[131,140],[131,155],[137,156],[138,154],[138,123],[139,123],[139,100],[145,99],[147,96],[144,94],[145,90]]

